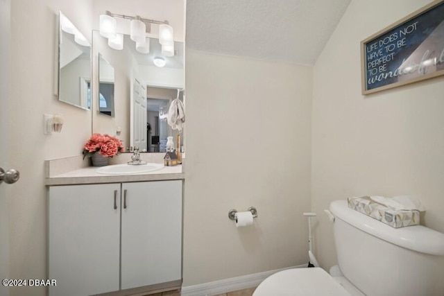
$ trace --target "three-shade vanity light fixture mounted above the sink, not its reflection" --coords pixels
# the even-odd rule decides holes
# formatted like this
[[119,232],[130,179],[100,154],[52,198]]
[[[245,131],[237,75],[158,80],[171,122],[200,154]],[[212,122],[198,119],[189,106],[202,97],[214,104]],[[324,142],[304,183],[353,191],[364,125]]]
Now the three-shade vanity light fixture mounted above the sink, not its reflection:
[[159,42],[162,44],[162,54],[167,57],[174,55],[173,27],[169,25],[168,21],[144,19],[139,17],[139,15],[135,17],[117,15],[107,10],[105,15],[100,16],[100,35],[108,38],[108,40],[114,39],[117,35],[117,21],[115,17],[130,19],[130,38],[136,42],[136,50],[139,53],[149,53],[149,38],[146,37],[146,33],[151,33],[151,24],[157,24],[159,25]]

